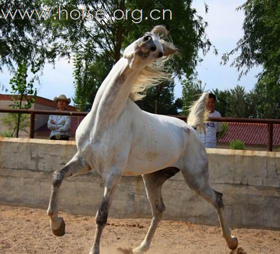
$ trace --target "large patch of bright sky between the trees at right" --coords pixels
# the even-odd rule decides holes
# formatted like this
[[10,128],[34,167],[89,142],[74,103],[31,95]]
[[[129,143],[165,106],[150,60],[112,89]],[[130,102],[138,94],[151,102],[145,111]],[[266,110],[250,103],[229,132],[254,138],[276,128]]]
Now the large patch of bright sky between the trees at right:
[[238,72],[235,68],[229,66],[231,62],[225,66],[219,64],[222,55],[234,49],[237,41],[243,36],[244,13],[242,11],[237,12],[235,9],[244,4],[245,1],[205,0],[205,3],[209,7],[206,15],[203,1],[193,1],[192,6],[203,17],[204,21],[208,22],[206,34],[212,45],[218,50],[218,55],[215,56],[212,51],[209,51],[205,57],[200,54],[203,62],[196,68],[198,79],[202,81],[202,84],[206,83],[206,90],[215,88],[219,90],[231,89],[237,84],[244,86],[246,91],[251,90],[257,81],[255,76],[261,71],[261,68],[253,68],[238,81]]

